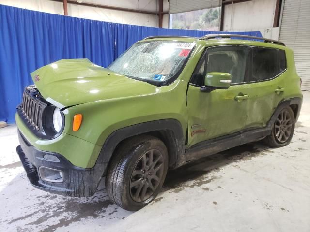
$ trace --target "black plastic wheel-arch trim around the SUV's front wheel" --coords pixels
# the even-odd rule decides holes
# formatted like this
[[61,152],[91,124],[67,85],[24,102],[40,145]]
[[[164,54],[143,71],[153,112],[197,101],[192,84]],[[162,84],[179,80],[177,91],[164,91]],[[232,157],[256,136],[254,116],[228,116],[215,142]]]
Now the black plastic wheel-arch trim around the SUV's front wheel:
[[95,166],[98,164],[105,165],[105,171],[103,173],[105,175],[113,152],[120,142],[139,134],[154,131],[160,132],[164,137],[163,142],[166,144],[169,154],[169,166],[175,168],[185,163],[185,138],[181,123],[176,119],[162,119],[135,124],[112,132],[102,146]]

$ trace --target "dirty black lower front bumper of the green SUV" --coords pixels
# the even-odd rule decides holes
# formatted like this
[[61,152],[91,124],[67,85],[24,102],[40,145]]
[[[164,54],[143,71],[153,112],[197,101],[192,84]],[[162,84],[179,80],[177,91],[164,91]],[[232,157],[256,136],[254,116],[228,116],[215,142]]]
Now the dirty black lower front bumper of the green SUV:
[[[25,137],[18,131],[20,145],[16,151],[24,166],[31,184],[41,190],[72,196],[83,197],[92,196],[104,173],[104,165],[95,165],[93,168],[80,168],[74,166],[61,154],[54,152],[41,151],[32,146]],[[51,161],[44,158],[45,155],[52,155],[59,161]],[[44,180],[40,173],[40,167],[49,170],[58,170],[62,173],[62,181],[53,183]]]

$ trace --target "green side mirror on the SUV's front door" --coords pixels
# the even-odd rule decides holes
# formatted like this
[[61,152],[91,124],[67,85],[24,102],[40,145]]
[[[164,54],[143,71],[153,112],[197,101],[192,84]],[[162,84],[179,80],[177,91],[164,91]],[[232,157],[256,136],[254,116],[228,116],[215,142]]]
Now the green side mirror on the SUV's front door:
[[202,92],[211,92],[215,89],[228,89],[232,83],[232,76],[229,73],[211,72],[204,77]]

